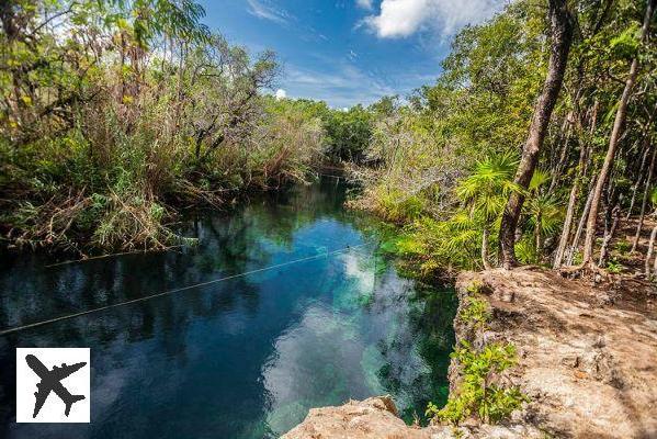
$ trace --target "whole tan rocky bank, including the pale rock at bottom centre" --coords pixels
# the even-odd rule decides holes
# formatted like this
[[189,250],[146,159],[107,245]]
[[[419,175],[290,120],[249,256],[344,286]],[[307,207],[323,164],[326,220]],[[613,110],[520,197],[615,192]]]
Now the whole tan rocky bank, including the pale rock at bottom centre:
[[[463,304],[473,294],[486,301],[485,328],[464,322]],[[462,423],[468,438],[649,438],[657,435],[657,291],[635,278],[603,284],[568,280],[558,272],[523,268],[462,273],[455,319],[457,341],[475,348],[512,344],[518,364],[496,380],[518,385],[529,402],[511,419],[489,426]],[[450,381],[457,394],[462,375],[452,360]],[[301,438],[449,438],[451,426],[405,427],[385,398],[310,410],[284,436]],[[395,436],[397,435],[397,436]]]

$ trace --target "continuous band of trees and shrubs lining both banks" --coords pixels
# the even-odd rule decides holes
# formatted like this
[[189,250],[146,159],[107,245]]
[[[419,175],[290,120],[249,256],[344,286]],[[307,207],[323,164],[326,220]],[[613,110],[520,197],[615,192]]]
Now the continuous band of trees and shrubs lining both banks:
[[[454,37],[434,85],[336,111],[271,97],[275,55],[230,46],[188,0],[3,2],[4,239],[165,247],[182,207],[337,162],[364,188],[352,206],[403,226],[386,247],[423,274],[618,271],[636,250],[649,274],[654,10],[517,1]],[[614,246],[623,224],[634,238]]]

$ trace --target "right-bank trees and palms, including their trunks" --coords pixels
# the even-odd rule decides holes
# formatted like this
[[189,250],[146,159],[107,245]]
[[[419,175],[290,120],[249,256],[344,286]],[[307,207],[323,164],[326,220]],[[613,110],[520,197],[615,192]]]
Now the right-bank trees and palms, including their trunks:
[[[571,3],[464,29],[437,83],[376,117],[355,204],[406,225],[388,246],[424,274],[641,257],[650,272],[655,2]],[[612,248],[623,223],[634,238]]]

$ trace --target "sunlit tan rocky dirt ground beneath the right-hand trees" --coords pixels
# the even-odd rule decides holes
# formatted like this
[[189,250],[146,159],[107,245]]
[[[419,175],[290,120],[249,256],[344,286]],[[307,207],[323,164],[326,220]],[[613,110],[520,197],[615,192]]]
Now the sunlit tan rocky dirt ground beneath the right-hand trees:
[[525,421],[555,437],[657,438],[657,292],[638,279],[594,284],[540,269],[463,274],[494,308],[489,339],[513,342]]

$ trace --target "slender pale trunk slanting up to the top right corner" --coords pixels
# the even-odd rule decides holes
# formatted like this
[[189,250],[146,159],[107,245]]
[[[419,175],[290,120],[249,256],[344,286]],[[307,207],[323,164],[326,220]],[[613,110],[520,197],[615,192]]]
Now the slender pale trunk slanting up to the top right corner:
[[[644,23],[641,35],[642,41],[645,41],[648,34],[648,27],[650,25],[650,19],[653,18],[655,3],[657,3],[657,0],[647,1],[646,14],[644,16]],[[593,260],[593,244],[596,240],[596,223],[598,221],[600,198],[602,196],[602,189],[604,188],[604,184],[607,183],[607,179],[609,177],[609,172],[611,171],[616,148],[619,146],[619,139],[621,138],[621,135],[623,133],[623,126],[625,124],[625,117],[627,115],[627,103],[630,102],[630,97],[632,94],[632,89],[634,88],[634,81],[636,80],[637,72],[638,57],[635,57],[632,60],[632,65],[630,67],[630,76],[625,81],[625,88],[623,90],[623,94],[621,95],[621,100],[619,101],[619,108],[616,110],[616,116],[614,120],[613,128],[611,131],[611,137],[609,139],[609,148],[607,150],[607,156],[604,157],[604,162],[602,164],[600,176],[598,177],[598,181],[596,182],[596,191],[593,192],[591,210],[589,211],[589,217],[587,219],[587,234],[584,240],[585,264],[591,264]]]

